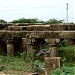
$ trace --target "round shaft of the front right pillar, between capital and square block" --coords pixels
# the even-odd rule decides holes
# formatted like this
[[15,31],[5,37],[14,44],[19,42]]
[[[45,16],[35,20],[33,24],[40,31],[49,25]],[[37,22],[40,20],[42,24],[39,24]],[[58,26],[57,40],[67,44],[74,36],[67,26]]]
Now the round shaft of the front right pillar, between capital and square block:
[[58,44],[50,44],[50,57],[56,57],[58,55]]

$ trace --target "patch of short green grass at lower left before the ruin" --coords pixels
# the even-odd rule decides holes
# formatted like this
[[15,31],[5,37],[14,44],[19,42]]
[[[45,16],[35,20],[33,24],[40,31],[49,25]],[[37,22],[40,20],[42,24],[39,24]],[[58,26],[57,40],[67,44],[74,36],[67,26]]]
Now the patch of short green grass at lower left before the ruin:
[[32,71],[31,62],[19,57],[0,56],[0,66],[4,66],[4,68],[0,68],[4,73],[14,73],[13,71],[15,71],[23,75],[21,73]]

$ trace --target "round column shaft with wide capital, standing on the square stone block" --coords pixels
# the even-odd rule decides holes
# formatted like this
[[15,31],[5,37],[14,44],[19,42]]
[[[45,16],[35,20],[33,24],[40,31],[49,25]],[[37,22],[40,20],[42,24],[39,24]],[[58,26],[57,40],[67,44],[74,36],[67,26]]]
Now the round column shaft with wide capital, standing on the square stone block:
[[49,44],[50,57],[56,57],[58,55],[58,44],[60,42],[60,39],[50,38],[45,39],[45,41]]

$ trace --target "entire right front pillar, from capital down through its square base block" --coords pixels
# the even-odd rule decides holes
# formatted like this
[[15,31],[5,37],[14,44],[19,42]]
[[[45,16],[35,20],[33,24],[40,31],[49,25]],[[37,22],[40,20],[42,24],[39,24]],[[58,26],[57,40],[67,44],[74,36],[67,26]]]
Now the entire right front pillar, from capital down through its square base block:
[[[48,41],[49,40],[49,41]],[[58,44],[60,39],[48,39],[50,56],[45,57],[45,75],[51,75],[53,70],[60,68],[60,57],[58,56]]]

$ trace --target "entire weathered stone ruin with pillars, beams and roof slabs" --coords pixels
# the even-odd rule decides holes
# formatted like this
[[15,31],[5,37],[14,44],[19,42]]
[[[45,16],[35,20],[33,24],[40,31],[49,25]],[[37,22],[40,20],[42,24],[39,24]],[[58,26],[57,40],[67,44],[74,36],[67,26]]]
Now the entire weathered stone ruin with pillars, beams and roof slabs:
[[75,42],[74,24],[6,24],[0,29],[0,55],[15,56],[17,52],[32,51],[33,46],[40,51],[42,44],[49,44],[50,55],[45,57],[45,75],[60,68],[59,42],[65,38]]

